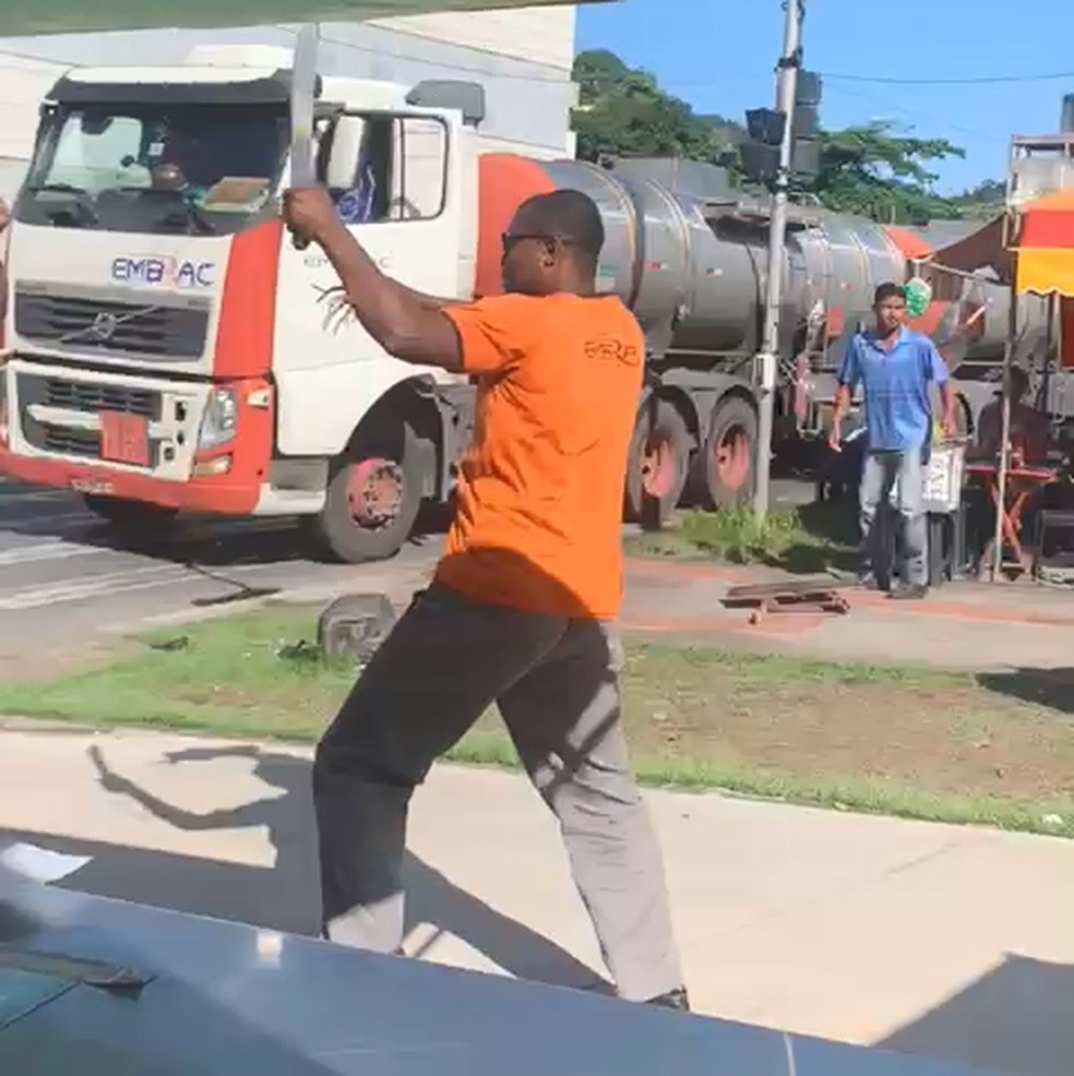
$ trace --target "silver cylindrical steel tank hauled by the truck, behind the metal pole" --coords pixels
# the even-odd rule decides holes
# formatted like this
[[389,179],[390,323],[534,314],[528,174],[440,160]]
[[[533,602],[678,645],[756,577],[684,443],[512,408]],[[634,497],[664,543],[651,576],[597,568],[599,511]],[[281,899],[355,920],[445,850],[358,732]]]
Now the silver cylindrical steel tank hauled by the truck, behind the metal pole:
[[[584,190],[608,229],[602,270],[652,334],[654,354],[751,356],[759,345],[767,268],[767,207],[732,191],[723,169],[670,159],[630,159],[606,170],[582,162],[546,166],[559,187]],[[935,222],[899,228],[809,206],[791,207],[784,265],[785,348],[797,350],[823,315],[837,342],[869,313],[873,289],[906,278],[908,263],[960,241],[982,225]],[[986,275],[967,279],[919,321],[962,360],[1002,356],[1009,289]],[[954,301],[951,301],[951,300]],[[964,309],[957,308],[962,304]],[[958,314],[985,308],[959,339]],[[1030,328],[1043,304],[1026,304]]]

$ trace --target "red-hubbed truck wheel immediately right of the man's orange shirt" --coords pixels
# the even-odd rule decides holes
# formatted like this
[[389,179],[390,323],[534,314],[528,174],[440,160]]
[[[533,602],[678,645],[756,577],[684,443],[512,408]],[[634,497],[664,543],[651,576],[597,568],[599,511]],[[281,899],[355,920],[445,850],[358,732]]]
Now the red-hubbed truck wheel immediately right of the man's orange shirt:
[[646,522],[646,501],[658,507],[659,522],[670,518],[690,470],[690,431],[667,399],[648,400],[637,413],[626,471],[626,518]]

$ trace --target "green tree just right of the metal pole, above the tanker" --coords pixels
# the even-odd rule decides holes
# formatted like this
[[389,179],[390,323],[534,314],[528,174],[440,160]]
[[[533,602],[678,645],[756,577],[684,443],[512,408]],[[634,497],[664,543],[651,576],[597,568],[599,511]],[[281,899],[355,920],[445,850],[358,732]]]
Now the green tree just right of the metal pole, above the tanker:
[[946,139],[918,139],[887,121],[822,135],[820,172],[800,186],[831,210],[891,224],[962,216],[955,199],[935,193],[935,160],[964,157]]

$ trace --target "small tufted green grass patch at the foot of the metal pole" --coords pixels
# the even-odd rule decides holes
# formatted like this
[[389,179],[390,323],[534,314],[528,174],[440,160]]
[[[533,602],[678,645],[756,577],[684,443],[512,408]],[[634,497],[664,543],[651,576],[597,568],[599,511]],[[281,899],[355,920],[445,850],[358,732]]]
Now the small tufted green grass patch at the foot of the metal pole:
[[626,539],[635,555],[769,564],[818,572],[852,564],[855,521],[846,504],[822,502],[773,509],[760,519],[752,507],[684,512],[666,529]]

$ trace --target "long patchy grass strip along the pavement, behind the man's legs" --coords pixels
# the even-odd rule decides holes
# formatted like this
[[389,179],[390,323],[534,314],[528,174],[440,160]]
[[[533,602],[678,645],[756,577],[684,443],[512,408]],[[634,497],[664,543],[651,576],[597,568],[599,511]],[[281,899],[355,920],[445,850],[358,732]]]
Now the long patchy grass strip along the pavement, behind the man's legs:
[[[318,610],[272,605],[145,636],[136,656],[0,684],[0,713],[310,742],[351,671],[305,641]],[[649,785],[1074,836],[1069,714],[929,669],[628,645],[624,721]],[[514,765],[486,715],[460,762]],[[1058,820],[1058,821],[1057,821]]]

